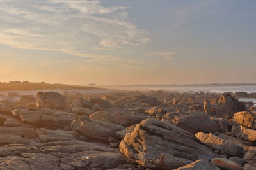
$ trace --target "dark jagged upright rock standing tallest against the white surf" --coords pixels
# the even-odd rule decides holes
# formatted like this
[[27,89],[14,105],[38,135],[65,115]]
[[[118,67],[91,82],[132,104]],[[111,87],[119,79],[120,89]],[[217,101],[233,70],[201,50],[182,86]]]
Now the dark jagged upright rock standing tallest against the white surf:
[[245,111],[246,106],[244,103],[239,102],[235,97],[230,94],[224,93],[221,95],[216,110],[217,117],[232,118],[237,111]]

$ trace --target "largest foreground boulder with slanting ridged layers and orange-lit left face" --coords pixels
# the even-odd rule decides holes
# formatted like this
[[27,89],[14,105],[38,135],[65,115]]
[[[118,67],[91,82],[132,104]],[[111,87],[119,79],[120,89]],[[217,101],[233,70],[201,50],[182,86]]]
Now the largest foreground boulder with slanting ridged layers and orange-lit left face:
[[188,161],[218,157],[211,149],[198,143],[191,133],[154,118],[136,125],[134,131],[125,135],[119,149],[127,159],[150,168],[157,167],[153,162],[160,159],[162,153]]

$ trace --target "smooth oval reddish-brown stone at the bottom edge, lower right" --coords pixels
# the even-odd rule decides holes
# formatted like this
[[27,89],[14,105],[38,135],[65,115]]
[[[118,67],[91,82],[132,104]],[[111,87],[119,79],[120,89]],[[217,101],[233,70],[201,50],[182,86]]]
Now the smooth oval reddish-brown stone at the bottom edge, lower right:
[[228,160],[225,158],[214,158],[211,160],[211,162],[223,170],[241,170],[242,169],[242,167],[239,166],[239,164],[236,164],[235,162],[232,162],[231,160]]

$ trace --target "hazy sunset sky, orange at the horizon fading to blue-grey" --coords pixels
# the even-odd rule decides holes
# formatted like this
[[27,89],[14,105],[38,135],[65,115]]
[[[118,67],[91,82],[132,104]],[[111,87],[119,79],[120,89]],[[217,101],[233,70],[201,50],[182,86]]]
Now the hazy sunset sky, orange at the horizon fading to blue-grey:
[[0,81],[256,83],[255,0],[0,0]]

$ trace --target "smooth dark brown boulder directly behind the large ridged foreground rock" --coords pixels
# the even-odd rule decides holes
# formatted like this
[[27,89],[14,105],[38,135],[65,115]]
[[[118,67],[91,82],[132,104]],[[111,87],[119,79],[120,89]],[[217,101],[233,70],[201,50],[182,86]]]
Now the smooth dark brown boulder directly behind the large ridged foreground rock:
[[172,122],[178,127],[196,134],[197,132],[211,132],[218,131],[218,126],[205,113],[193,113],[191,115],[184,115],[182,113],[166,113],[162,118],[163,122]]

